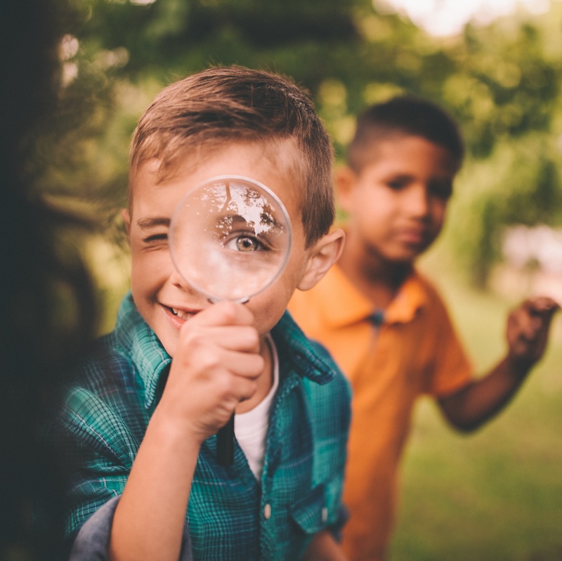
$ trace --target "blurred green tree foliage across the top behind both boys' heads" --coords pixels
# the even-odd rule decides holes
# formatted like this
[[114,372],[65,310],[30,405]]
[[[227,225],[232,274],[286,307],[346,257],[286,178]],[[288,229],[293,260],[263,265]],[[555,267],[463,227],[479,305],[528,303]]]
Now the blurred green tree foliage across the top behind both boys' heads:
[[[136,118],[162,86],[209,65],[282,72],[306,86],[341,157],[355,115],[408,92],[441,103],[469,152],[450,228],[455,252],[485,285],[502,228],[558,225],[562,4],[462,34],[431,37],[370,0],[73,0],[65,32],[79,49],[46,131],[49,191],[122,205]],[[75,127],[65,107],[86,115]],[[485,172],[483,171],[485,170]],[[466,184],[466,186],[465,186]],[[469,238],[467,240],[466,238]]]

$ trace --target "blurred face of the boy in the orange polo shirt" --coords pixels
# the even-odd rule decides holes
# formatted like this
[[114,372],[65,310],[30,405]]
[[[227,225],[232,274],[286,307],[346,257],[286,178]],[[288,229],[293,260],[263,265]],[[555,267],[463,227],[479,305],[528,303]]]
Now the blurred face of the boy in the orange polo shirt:
[[409,263],[441,231],[457,166],[445,148],[417,136],[396,136],[376,150],[360,174],[340,182],[348,240],[360,240],[374,259]]

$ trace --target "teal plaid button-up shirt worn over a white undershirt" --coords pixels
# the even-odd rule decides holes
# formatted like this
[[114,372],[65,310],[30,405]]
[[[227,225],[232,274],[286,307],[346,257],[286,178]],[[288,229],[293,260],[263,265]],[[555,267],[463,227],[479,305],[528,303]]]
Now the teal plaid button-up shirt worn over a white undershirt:
[[[270,414],[261,482],[242,449],[216,463],[216,437],[202,445],[186,520],[195,559],[299,559],[312,536],[343,523],[341,488],[350,390],[332,359],[285,313],[271,335],[280,385]],[[115,330],[102,337],[67,392],[55,437],[77,468],[69,536],[122,494],[171,358],[128,295]]]

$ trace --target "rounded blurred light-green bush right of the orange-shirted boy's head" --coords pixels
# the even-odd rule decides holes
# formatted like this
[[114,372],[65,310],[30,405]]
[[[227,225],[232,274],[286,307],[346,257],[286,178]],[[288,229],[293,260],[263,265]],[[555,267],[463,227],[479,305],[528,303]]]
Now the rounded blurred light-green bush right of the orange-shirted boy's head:
[[497,143],[490,157],[471,160],[459,176],[449,222],[452,247],[471,280],[485,288],[502,259],[509,226],[562,226],[560,154],[537,132]]

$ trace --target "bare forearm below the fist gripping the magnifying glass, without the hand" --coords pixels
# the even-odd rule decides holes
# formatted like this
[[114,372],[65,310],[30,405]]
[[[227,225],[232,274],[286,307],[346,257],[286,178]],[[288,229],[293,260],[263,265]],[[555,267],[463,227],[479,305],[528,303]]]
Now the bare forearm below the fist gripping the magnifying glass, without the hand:
[[115,511],[110,560],[178,559],[199,448],[155,411]]

